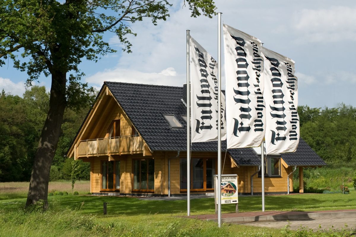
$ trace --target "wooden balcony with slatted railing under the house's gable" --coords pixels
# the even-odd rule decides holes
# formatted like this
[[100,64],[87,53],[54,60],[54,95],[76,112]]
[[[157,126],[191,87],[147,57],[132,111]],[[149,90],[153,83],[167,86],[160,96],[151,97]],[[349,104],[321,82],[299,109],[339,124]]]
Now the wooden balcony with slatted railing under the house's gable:
[[139,135],[82,140],[76,149],[77,157],[143,153],[143,140]]

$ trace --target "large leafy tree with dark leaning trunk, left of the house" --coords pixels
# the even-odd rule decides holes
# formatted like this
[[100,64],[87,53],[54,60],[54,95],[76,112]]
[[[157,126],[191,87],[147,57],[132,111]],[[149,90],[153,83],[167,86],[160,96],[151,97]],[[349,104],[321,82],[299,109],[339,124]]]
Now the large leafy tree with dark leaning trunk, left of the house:
[[[192,17],[215,14],[211,0],[185,3]],[[49,173],[64,111],[80,109],[93,93],[93,88],[80,81],[84,75],[79,69],[81,61],[98,61],[115,52],[103,40],[107,31],[115,33],[123,49],[131,52],[127,35],[136,33],[130,26],[144,19],[156,25],[169,17],[171,6],[167,0],[0,1],[0,66],[12,59],[15,68],[27,72],[28,85],[42,73],[51,76],[48,112],[33,161],[26,206],[42,199],[47,208]]]

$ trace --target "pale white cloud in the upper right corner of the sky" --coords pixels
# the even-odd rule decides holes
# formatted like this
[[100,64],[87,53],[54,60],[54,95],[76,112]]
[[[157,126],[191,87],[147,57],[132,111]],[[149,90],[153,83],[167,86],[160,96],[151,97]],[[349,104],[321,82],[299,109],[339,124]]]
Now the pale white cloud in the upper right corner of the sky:
[[331,6],[303,9],[294,14],[299,42],[336,42],[356,39],[356,8]]

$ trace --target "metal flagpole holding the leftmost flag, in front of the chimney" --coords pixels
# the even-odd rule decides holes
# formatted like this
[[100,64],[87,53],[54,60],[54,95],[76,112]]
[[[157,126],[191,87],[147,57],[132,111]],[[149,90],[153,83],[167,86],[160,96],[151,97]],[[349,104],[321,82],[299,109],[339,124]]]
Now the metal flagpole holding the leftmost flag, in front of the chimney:
[[187,215],[190,216],[190,60],[189,35],[187,30]]

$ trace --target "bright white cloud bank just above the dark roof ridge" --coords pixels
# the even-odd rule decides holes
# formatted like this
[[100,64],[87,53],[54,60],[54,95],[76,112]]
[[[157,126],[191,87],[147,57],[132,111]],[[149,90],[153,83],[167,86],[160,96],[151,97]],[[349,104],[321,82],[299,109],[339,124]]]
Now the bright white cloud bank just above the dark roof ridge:
[[101,85],[104,81],[117,81],[138,84],[153,84],[167,86],[182,86],[185,75],[177,75],[174,68],[167,68],[161,72],[142,72],[131,69],[110,69],[85,78],[86,82]]

